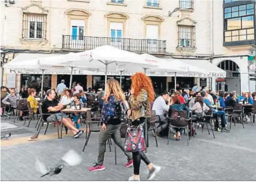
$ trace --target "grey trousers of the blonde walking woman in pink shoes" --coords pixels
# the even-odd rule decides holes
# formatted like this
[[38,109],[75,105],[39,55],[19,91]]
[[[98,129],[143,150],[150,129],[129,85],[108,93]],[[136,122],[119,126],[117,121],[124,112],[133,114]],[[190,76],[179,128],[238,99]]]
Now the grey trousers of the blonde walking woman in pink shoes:
[[104,154],[106,152],[106,143],[108,139],[111,137],[116,145],[124,152],[127,156],[127,159],[132,159],[132,155],[124,150],[124,145],[122,144],[121,136],[120,136],[120,126],[121,124],[112,125],[107,124],[107,128],[105,130],[101,129],[99,133],[99,151],[98,151],[98,160],[97,164],[102,165],[104,162]]

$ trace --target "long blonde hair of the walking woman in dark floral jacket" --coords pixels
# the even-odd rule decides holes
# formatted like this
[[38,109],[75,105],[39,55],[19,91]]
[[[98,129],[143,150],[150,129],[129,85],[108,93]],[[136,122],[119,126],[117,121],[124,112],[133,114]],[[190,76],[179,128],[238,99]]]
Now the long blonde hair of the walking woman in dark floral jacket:
[[118,101],[125,101],[124,93],[119,85],[119,82],[115,79],[109,79],[106,86],[106,98],[107,102],[110,96],[113,94]]

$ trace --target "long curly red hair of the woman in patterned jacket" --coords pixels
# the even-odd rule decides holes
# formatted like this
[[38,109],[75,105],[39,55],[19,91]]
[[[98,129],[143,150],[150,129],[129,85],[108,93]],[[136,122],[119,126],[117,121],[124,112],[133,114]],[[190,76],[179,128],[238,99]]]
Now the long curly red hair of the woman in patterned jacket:
[[155,100],[155,91],[151,79],[144,73],[137,72],[131,77],[132,85],[134,89],[134,95],[138,96],[141,89],[145,89],[148,94],[148,100],[150,102]]

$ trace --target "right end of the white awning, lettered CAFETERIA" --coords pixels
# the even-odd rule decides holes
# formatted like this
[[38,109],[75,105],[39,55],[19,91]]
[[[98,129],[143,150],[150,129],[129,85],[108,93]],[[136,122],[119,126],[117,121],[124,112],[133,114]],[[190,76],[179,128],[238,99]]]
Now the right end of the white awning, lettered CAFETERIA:
[[[165,60],[173,60],[173,59],[165,59]],[[220,69],[219,67],[215,66],[214,64],[210,63],[208,60],[183,60],[178,59],[184,63],[190,64],[192,66],[196,66],[198,68],[204,69],[207,71],[205,74],[177,74],[177,77],[201,77],[201,78],[226,78],[226,71]]]

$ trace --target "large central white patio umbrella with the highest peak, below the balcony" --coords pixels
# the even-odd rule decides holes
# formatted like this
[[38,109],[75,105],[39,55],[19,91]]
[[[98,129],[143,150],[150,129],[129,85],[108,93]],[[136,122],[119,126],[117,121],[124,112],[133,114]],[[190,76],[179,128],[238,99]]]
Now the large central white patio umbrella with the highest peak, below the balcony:
[[76,53],[72,55],[72,59],[62,60],[58,64],[72,65],[84,69],[95,68],[97,71],[105,69],[106,85],[108,70],[115,72],[126,68],[129,68],[129,70],[136,70],[142,67],[152,68],[158,66],[160,62],[158,60],[145,59],[139,54],[117,49],[110,45],[103,45],[89,51]]

